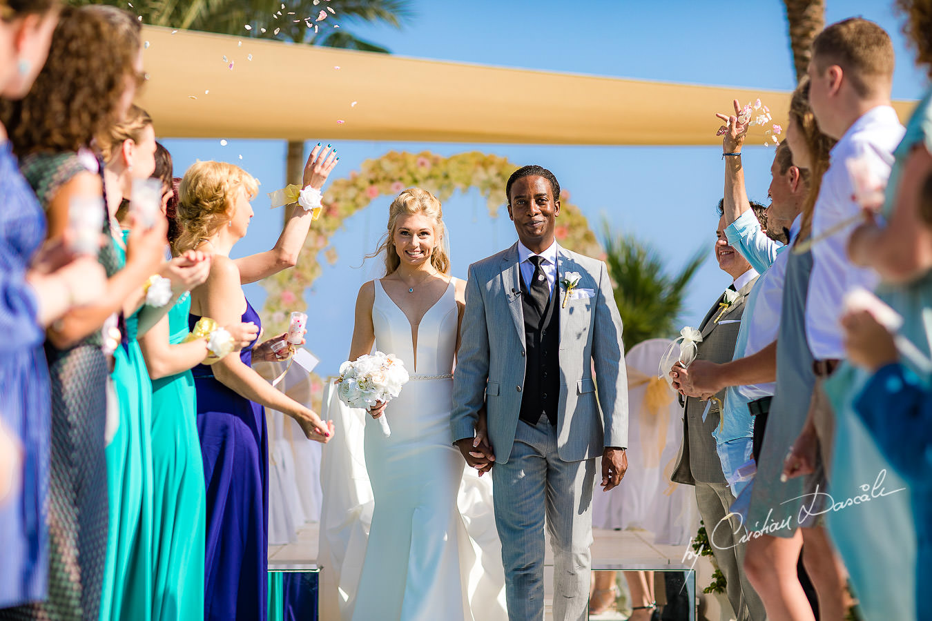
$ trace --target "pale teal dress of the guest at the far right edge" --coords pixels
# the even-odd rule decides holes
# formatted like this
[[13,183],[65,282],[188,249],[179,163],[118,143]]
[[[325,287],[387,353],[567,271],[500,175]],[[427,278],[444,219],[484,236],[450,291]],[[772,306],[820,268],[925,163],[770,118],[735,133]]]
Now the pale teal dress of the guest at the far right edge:
[[[896,205],[899,176],[916,144],[925,144],[932,152],[932,90],[926,92],[916,106],[903,141],[894,152],[896,162],[887,184],[885,216],[889,216]],[[930,348],[923,309],[932,307],[932,273],[904,286],[882,284],[876,293],[903,317],[900,333],[928,357]],[[917,367],[909,359],[901,361],[925,385],[932,385],[928,369]],[[870,373],[845,363],[826,383],[835,411],[830,493],[836,503],[843,503],[864,493],[866,486],[871,498],[868,503],[832,511],[826,518],[831,538],[851,576],[864,618],[913,619],[920,605],[916,591],[928,587],[916,584],[916,563],[928,560],[918,559],[916,555],[919,537],[910,485],[884,457],[870,428],[854,410],[869,379]],[[891,424],[897,423],[891,421]],[[903,433],[908,433],[908,429],[904,428]],[[878,483],[880,477],[883,480]],[[927,530],[927,525],[922,525],[921,530]],[[921,605],[925,607],[925,602]]]

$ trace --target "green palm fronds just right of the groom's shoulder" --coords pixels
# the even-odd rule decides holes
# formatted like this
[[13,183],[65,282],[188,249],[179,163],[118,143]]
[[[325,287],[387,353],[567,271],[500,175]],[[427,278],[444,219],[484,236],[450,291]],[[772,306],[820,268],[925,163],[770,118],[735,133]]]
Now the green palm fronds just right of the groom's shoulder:
[[612,233],[608,222],[603,223],[602,236],[624,325],[625,351],[641,341],[676,334],[686,287],[706,261],[706,250],[697,250],[678,274],[670,276],[660,254],[635,236]]

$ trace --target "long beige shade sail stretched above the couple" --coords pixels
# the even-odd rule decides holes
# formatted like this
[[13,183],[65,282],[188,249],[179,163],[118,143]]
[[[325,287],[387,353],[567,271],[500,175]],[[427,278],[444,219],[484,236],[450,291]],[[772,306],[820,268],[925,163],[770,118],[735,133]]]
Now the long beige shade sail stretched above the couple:
[[[733,99],[761,98],[782,125],[789,99],[172,32],[144,28],[150,80],[139,103],[160,136],[178,138],[720,144],[714,113]],[[898,102],[899,115],[913,105]],[[752,128],[751,138],[765,137]]]

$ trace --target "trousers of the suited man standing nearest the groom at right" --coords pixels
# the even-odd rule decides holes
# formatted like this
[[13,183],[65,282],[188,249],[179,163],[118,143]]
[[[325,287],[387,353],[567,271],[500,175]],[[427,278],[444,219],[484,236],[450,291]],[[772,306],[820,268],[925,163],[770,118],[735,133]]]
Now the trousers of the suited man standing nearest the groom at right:
[[[728,583],[726,589],[732,610],[737,615],[738,621],[763,621],[767,616],[763,601],[754,587],[747,582],[747,574],[743,568],[747,546],[739,544],[738,540],[744,533],[744,528],[735,517],[724,520],[729,513],[728,507],[732,506],[733,502],[734,496],[728,483],[696,481],[696,504],[699,505],[699,515],[706,524],[706,534],[712,545],[712,554],[715,555],[715,561],[719,564],[721,573]],[[716,528],[717,525],[719,525],[718,528]]]

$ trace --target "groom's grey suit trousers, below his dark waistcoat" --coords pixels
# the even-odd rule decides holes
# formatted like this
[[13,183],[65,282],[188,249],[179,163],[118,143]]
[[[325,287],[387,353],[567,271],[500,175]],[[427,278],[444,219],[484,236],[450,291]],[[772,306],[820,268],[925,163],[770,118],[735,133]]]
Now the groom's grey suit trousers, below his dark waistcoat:
[[554,548],[554,619],[588,618],[596,460],[563,461],[545,416],[519,421],[508,462],[492,468],[510,621],[543,619],[544,517]]

